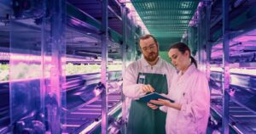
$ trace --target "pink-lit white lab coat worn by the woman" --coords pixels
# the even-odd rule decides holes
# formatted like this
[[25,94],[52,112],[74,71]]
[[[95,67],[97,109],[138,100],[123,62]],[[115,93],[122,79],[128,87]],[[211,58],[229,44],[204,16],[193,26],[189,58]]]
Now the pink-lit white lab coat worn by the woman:
[[181,110],[166,106],[160,107],[167,112],[166,134],[206,133],[210,112],[210,93],[205,74],[191,64],[182,75],[172,79],[168,97],[182,104]]

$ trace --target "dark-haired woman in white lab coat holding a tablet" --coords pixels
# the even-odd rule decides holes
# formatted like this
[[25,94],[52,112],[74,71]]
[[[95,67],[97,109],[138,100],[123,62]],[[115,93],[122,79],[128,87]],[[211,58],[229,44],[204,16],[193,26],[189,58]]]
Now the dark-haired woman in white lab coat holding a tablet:
[[148,107],[157,109],[154,104],[163,105],[160,109],[167,113],[167,134],[206,133],[210,110],[210,93],[205,74],[197,70],[195,59],[190,56],[189,47],[178,42],[170,47],[168,55],[172,64],[179,70],[173,77],[167,97],[175,101],[151,100]]

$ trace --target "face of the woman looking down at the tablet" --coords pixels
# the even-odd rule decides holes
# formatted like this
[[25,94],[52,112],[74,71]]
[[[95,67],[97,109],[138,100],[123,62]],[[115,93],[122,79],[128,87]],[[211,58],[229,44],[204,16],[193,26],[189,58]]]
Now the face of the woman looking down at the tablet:
[[189,51],[181,53],[177,48],[170,49],[169,58],[172,61],[172,64],[177,68],[177,70],[186,70],[189,66]]

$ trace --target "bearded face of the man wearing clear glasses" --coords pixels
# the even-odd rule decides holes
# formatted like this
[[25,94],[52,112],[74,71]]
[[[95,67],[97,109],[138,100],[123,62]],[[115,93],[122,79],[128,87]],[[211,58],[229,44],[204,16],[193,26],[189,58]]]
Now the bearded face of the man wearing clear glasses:
[[144,58],[148,62],[153,62],[158,57],[158,44],[154,42],[152,37],[140,41],[140,47]]

